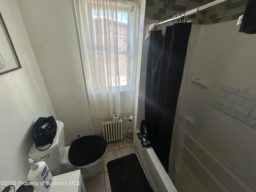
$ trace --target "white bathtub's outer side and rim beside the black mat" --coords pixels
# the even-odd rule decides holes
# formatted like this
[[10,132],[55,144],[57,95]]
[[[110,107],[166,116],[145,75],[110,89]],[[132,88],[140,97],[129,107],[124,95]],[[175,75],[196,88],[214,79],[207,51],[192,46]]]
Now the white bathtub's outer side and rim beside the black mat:
[[143,148],[135,138],[136,150],[154,192],[178,192],[152,147]]

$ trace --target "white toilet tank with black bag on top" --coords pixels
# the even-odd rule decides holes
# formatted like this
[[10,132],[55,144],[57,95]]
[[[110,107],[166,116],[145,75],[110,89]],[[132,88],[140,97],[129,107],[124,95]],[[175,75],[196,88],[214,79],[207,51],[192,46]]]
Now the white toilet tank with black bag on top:
[[[50,171],[58,168],[65,154],[64,124],[58,120],[56,120],[56,124],[57,131],[53,139],[52,145],[48,149],[40,151],[36,148],[35,143],[33,143],[28,152],[28,157],[34,159],[35,162],[46,162]],[[45,149],[48,146],[49,145],[45,145],[38,148]]]

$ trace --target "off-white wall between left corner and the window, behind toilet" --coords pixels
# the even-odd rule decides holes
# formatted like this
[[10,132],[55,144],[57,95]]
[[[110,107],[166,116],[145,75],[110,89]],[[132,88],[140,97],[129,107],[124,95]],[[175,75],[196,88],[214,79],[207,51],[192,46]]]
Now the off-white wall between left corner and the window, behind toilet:
[[66,142],[93,133],[72,2],[18,1],[56,117],[64,123]]

